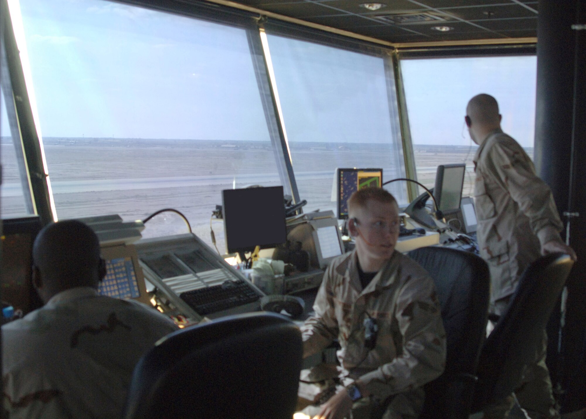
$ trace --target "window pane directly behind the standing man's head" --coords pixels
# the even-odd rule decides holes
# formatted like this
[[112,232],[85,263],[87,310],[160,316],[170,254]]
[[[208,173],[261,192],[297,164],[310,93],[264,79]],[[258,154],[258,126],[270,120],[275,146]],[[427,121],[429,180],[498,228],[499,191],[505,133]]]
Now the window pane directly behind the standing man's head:
[[534,56],[401,60],[418,180],[433,187],[438,165],[466,162],[472,195],[476,144],[464,116],[479,93],[498,100],[503,130],[533,158],[536,66]]

